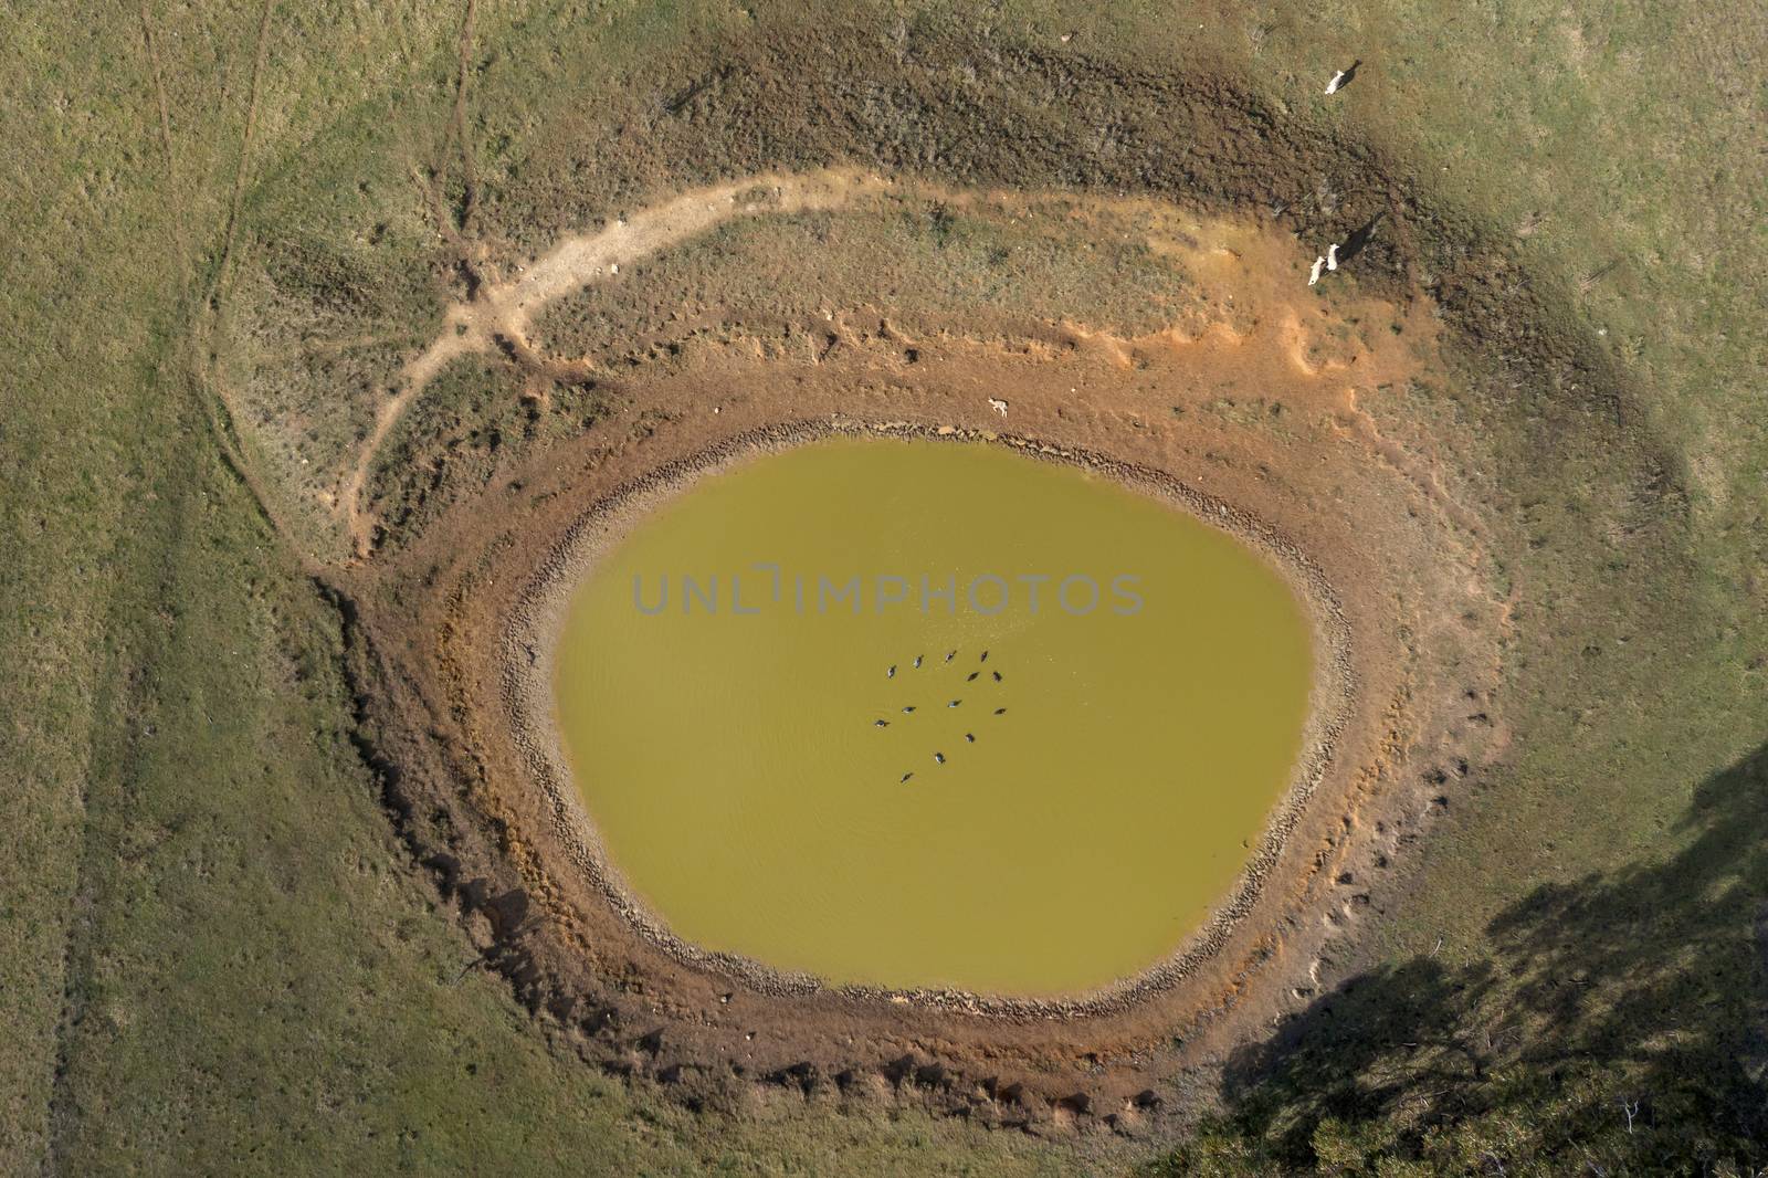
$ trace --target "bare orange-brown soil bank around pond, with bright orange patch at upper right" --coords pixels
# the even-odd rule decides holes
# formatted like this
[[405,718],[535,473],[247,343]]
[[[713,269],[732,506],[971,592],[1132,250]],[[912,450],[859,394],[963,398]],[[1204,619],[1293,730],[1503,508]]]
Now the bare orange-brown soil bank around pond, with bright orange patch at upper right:
[[[817,357],[734,343],[679,370],[638,370],[582,435],[339,571],[364,753],[483,964],[511,978],[541,1026],[693,1105],[758,1079],[990,1125],[1139,1132],[1186,1104],[1163,1100],[1185,1075],[1337,976],[1370,879],[1418,838],[1446,782],[1505,745],[1494,693],[1506,603],[1450,474],[1361,409],[1441,371],[1429,299],[1347,297],[1328,311],[1298,279],[1310,258],[1292,239],[1215,223],[1209,241],[1229,239],[1170,241],[1192,251],[1199,306],[1216,310],[1139,338],[953,315],[905,340],[886,311],[852,308],[820,325],[834,345]],[[506,354],[583,363],[525,341]],[[1010,402],[1006,421],[988,398]],[[1123,469],[1225,506],[1317,578],[1337,654],[1337,686],[1319,697],[1331,755],[1255,856],[1234,918],[1193,937],[1183,969],[1075,1005],[806,987],[651,936],[601,886],[569,791],[523,723],[545,663],[520,630],[523,608],[569,573],[599,508],[831,428],[994,437]]]

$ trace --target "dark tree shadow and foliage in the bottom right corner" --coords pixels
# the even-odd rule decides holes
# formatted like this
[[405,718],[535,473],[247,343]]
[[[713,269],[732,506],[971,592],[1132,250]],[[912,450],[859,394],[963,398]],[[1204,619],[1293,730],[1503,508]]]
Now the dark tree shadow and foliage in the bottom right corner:
[[[1206,1128],[1257,1166],[1754,1173],[1768,1164],[1768,745],[1715,773],[1685,849],[1499,913],[1322,994],[1225,1070]],[[1169,1159],[1174,1173],[1231,1173]],[[1220,1157],[1220,1155],[1213,1155]]]

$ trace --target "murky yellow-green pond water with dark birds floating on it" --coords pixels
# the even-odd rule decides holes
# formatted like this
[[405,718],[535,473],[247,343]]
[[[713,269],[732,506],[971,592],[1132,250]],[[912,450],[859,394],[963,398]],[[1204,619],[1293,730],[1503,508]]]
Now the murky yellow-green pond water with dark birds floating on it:
[[608,856],[681,937],[1063,994],[1225,895],[1310,674],[1287,584],[1190,515],[1001,447],[829,440],[647,516],[576,591],[555,690]]

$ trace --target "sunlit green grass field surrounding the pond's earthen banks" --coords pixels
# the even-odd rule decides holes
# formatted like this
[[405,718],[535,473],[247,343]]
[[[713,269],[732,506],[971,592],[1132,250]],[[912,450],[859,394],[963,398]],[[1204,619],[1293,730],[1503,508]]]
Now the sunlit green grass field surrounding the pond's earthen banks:
[[[9,11],[0,1169],[1768,1164],[1747,1141],[1768,1113],[1768,9],[962,7],[511,0],[477,7],[465,57],[460,4]],[[622,140],[723,37],[815,60],[829,30],[937,55],[953,28],[1232,74],[1409,161],[1600,333],[1635,391],[1623,425],[1660,439],[1637,541],[1611,543],[1611,426],[1575,398],[1372,407],[1466,453],[1515,541],[1526,739],[1430,837],[1363,983],[1231,1059],[1177,1148],[757,1093],[697,1116],[552,1045],[469,968],[348,738],[339,619],[301,555],[341,541],[285,467],[301,430],[320,460],[361,432],[370,377],[302,370],[292,449],[248,428],[263,357],[331,331],[248,334],[278,292],[375,322],[368,347],[431,333],[435,202],[522,256],[776,150],[826,163],[767,127],[723,157],[668,126],[652,154]]]

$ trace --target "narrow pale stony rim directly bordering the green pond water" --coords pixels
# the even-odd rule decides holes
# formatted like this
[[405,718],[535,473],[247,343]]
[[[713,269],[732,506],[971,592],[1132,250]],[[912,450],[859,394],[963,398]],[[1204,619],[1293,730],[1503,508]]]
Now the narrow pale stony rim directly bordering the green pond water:
[[[1018,453],[1059,465],[1094,470],[1170,508],[1186,511],[1199,522],[1225,531],[1252,547],[1291,585],[1308,616],[1314,635],[1314,683],[1291,784],[1264,822],[1236,883],[1213,906],[1209,918],[1192,930],[1163,960],[1103,987],[1063,998],[1013,998],[978,994],[962,989],[891,989],[857,983],[829,983],[810,973],[787,973],[751,957],[705,950],[675,936],[613,868],[596,824],[571,787],[571,773],[553,722],[553,651],[564,624],[569,598],[592,571],[596,561],[617,545],[631,527],[663,502],[679,497],[700,479],[743,465],[757,456],[778,453],[827,437],[914,437],[928,440],[985,442],[1008,446]],[[918,1003],[983,1017],[1061,1017],[1119,1014],[1147,998],[1167,992],[1218,955],[1236,927],[1246,920],[1276,868],[1289,835],[1308,808],[1319,784],[1333,764],[1335,746],[1356,711],[1356,677],[1351,658],[1351,626],[1338,594],[1324,571],[1289,538],[1215,495],[1186,486],[1177,478],[1071,446],[1050,446],[1034,439],[1001,435],[953,426],[911,423],[801,421],[764,426],[728,439],[698,455],[665,463],[589,506],[529,577],[509,624],[499,639],[504,662],[502,708],[514,734],[514,745],[529,775],[545,792],[555,833],[575,865],[592,881],[606,904],[649,943],[677,962],[709,968],[743,982],[760,994],[776,998],[834,992],[850,999]]]

